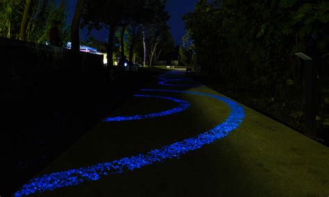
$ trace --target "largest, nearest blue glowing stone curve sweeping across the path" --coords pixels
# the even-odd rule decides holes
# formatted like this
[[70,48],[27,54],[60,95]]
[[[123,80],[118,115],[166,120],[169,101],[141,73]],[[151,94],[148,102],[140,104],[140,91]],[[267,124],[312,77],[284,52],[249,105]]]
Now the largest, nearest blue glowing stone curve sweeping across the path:
[[15,193],[15,196],[28,196],[30,194],[42,193],[44,191],[53,191],[61,187],[69,187],[80,185],[83,182],[99,180],[101,177],[112,175],[115,173],[123,173],[124,171],[132,171],[140,169],[143,166],[151,165],[155,162],[162,162],[170,158],[177,158],[189,151],[201,148],[205,144],[211,144],[218,139],[226,137],[228,133],[235,130],[244,120],[244,108],[230,99],[213,94],[205,94],[201,92],[185,92],[176,90],[162,89],[142,89],[144,92],[175,92],[183,94],[194,94],[208,96],[219,101],[223,101],[230,107],[230,114],[223,123],[203,132],[197,137],[185,139],[169,146],[163,146],[159,149],[149,151],[149,153],[135,155],[132,157],[124,157],[120,160],[96,164],[94,166],[83,167],[80,169],[71,169],[58,173],[43,175],[40,178],[33,178],[28,184],[24,185],[21,190]]

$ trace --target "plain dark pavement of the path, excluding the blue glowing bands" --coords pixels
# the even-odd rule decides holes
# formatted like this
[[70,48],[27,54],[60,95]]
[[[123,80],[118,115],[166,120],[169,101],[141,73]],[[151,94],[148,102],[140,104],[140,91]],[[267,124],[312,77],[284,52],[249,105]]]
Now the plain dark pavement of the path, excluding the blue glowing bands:
[[[184,73],[176,70],[164,77],[183,78]],[[222,96],[205,86],[148,86]],[[226,103],[210,97],[176,92],[140,94],[170,96],[188,101],[191,106],[165,117],[100,123],[38,176],[147,153],[211,130],[230,114]],[[176,106],[164,99],[137,97],[125,101],[109,116],[149,114]],[[242,107],[245,118],[239,128],[178,159],[37,196],[328,196],[329,148]]]

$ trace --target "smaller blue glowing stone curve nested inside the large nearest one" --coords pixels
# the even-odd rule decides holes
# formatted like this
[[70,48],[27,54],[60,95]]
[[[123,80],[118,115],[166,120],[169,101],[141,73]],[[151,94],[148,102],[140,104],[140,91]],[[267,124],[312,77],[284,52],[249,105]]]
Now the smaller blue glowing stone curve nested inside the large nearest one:
[[141,119],[150,119],[155,117],[164,117],[170,114],[175,114],[178,112],[183,112],[187,108],[189,108],[189,103],[187,101],[183,101],[180,99],[175,99],[172,97],[165,97],[165,96],[151,96],[151,95],[143,95],[143,94],[135,94],[135,97],[143,97],[143,98],[156,98],[156,99],[167,99],[170,101],[174,101],[179,103],[177,108],[173,108],[171,110],[153,113],[153,114],[144,114],[144,115],[134,115],[131,117],[112,117],[104,119],[103,121],[110,122],[110,121],[133,121],[133,120],[141,120]]

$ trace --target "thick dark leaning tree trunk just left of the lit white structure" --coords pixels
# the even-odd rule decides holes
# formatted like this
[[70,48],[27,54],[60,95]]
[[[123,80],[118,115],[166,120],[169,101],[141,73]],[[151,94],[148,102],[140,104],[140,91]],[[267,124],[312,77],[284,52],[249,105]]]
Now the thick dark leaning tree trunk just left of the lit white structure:
[[76,11],[74,12],[74,18],[71,24],[71,50],[73,51],[80,51],[79,28],[84,7],[85,0],[78,0],[78,2],[76,3]]

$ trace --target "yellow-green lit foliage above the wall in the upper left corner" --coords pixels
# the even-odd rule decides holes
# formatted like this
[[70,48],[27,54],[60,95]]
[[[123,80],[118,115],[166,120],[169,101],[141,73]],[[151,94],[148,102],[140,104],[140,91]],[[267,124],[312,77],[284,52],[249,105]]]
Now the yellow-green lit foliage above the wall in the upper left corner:
[[[0,1],[0,36],[17,39],[19,26],[22,22],[24,0]],[[32,9],[28,13],[26,41],[46,43],[49,41],[49,30],[53,22],[62,23],[60,32],[64,43],[69,40],[69,28],[66,26],[67,10],[65,1],[59,6],[53,0],[33,1]]]

